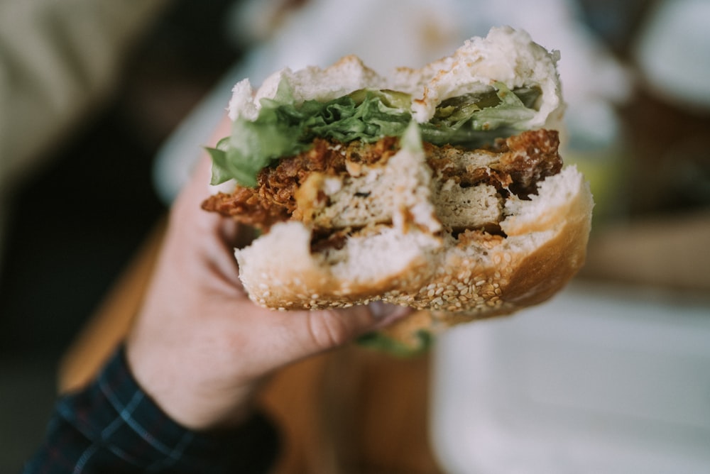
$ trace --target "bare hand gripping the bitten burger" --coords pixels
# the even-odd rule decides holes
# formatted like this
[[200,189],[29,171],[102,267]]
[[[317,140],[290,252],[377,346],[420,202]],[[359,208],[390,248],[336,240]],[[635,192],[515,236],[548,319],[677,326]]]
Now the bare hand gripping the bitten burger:
[[278,368],[409,313],[380,303],[312,312],[256,306],[241,287],[233,252],[248,242],[248,229],[200,209],[208,182],[204,157],[170,212],[151,287],[126,341],[143,390],[196,430],[243,420],[260,382]]

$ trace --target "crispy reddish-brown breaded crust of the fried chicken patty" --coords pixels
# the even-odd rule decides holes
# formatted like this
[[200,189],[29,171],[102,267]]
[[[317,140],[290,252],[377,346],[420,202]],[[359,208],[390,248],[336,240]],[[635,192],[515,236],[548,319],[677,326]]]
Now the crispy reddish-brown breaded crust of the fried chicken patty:
[[[466,189],[487,184],[493,187],[496,199],[506,199],[510,194],[528,199],[530,194],[535,194],[537,182],[562,169],[558,148],[557,131],[544,129],[525,131],[477,150],[424,144],[427,164],[438,186]],[[313,175],[356,178],[364,170],[384,165],[399,149],[399,139],[395,137],[382,138],[376,143],[338,143],[317,138],[309,150],[263,168],[258,173],[256,187],[237,186],[234,192],[219,192],[205,200],[202,207],[268,231],[277,222],[304,219],[297,192]],[[353,199],[366,198],[369,194],[366,190],[356,191]],[[323,206],[328,205],[327,196],[320,199]],[[476,225],[494,226],[497,219],[491,216],[488,220],[493,222]],[[338,229],[342,235],[346,225],[334,221],[316,221],[315,228],[320,232]],[[449,227],[463,230],[467,225]]]

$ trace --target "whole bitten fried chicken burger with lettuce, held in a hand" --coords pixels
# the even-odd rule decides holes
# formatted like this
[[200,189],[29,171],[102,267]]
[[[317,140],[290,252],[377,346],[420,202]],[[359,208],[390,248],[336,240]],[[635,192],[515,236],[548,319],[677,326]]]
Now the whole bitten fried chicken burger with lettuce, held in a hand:
[[593,207],[559,155],[558,59],[504,27],[420,69],[350,55],[236,84],[202,207],[258,231],[235,249],[249,297],[406,305],[371,341],[408,349],[552,297],[584,263]]

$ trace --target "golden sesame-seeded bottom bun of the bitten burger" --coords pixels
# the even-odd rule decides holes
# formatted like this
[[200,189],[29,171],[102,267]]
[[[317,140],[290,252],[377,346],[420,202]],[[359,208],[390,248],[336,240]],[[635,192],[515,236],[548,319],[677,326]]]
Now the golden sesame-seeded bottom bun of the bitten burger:
[[287,221],[236,258],[246,291],[263,307],[381,300],[422,310],[383,331],[412,348],[428,337],[422,331],[511,314],[561,290],[584,264],[593,206],[588,183],[568,166],[539,182],[530,199],[508,199],[500,233],[432,231],[400,219],[315,251],[311,229]]

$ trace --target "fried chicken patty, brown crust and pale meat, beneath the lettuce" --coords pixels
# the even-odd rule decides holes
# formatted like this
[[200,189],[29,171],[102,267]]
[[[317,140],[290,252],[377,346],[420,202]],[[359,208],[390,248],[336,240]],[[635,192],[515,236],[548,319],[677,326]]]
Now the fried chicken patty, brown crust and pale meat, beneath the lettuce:
[[[557,131],[525,131],[474,150],[423,143],[430,199],[442,230],[502,234],[506,199],[528,199],[537,182],[562,169]],[[316,138],[312,147],[258,172],[255,187],[209,197],[203,208],[261,231],[281,221],[313,229],[312,249],[337,248],[353,233],[391,226],[393,183],[382,170],[401,149],[397,137],[373,143]]]

